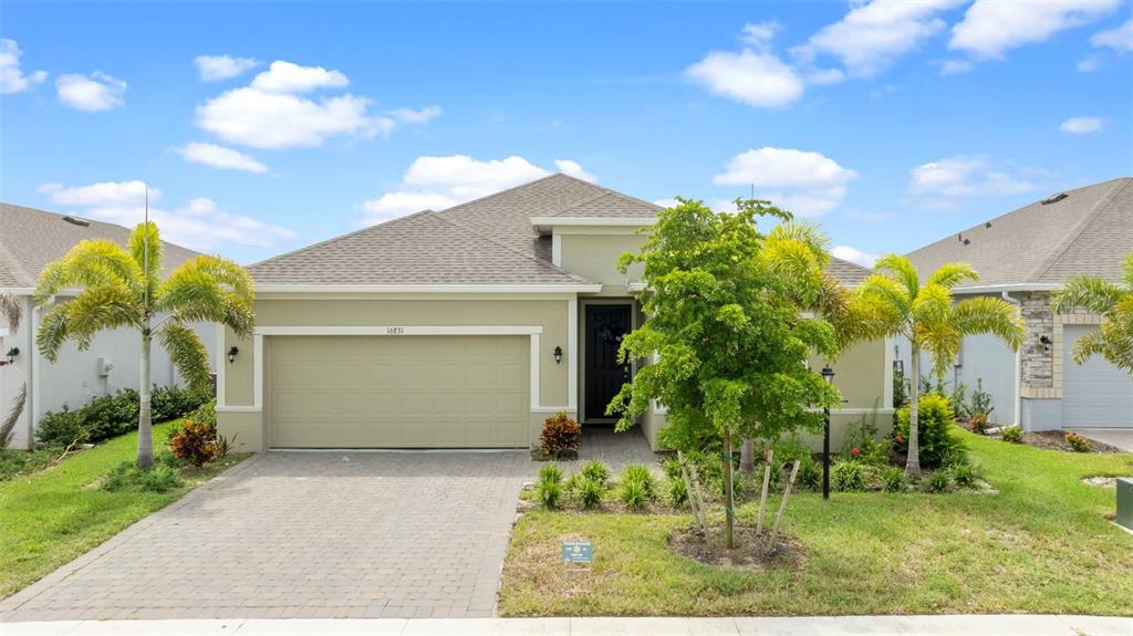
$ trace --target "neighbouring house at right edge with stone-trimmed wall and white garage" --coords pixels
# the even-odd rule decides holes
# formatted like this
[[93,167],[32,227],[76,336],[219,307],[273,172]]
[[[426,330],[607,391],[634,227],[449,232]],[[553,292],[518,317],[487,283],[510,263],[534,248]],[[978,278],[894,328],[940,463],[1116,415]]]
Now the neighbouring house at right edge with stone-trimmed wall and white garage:
[[[1067,277],[1116,282],[1131,251],[1133,179],[1123,178],[1059,192],[910,253],[922,276],[948,261],[971,263],[980,280],[956,294],[1000,296],[1019,304],[1026,320],[1017,353],[994,336],[965,338],[948,379],[969,389],[982,383],[994,397],[991,420],[1000,424],[1133,428],[1130,375],[1100,356],[1081,366],[1071,358],[1074,342],[1100,317],[1050,310],[1051,291]],[[908,359],[908,346],[900,355]]]

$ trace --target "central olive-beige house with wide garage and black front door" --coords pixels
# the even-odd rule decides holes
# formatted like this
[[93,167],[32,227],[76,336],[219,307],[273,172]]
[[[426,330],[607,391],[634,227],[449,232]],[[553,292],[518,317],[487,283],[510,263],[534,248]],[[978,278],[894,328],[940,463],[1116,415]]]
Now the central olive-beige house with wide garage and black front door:
[[[615,355],[644,293],[616,261],[659,209],[554,174],[250,266],[255,334],[218,333],[221,431],[245,450],[527,447],[557,411],[612,422],[606,404],[634,372]],[[836,419],[887,404],[888,350],[840,364],[850,403]],[[641,419],[650,444],[664,420]]]

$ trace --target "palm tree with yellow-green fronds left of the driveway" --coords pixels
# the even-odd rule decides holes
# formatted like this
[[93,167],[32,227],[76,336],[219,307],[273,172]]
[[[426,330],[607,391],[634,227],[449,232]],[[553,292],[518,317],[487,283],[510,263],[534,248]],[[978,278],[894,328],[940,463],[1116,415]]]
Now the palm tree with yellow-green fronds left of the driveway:
[[193,323],[219,323],[238,335],[252,333],[252,276],[230,260],[197,256],[162,280],[161,238],[154,223],[139,223],[123,249],[105,239],[80,241],[40,275],[35,300],[46,306],[58,292],[80,287],[69,302],[54,303],[43,317],[36,344],[54,362],[67,341],[80,350],[103,329],[128,327],[142,337],[138,458],[153,465],[150,420],[150,350],[153,338],[169,352],[189,386],[211,381],[208,353],[193,332]]

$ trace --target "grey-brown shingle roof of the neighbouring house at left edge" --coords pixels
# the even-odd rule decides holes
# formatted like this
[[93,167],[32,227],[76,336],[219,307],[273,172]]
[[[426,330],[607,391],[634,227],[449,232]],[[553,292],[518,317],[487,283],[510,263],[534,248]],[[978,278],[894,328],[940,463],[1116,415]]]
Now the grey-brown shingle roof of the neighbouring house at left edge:
[[[85,225],[68,222],[53,212],[0,204],[0,287],[34,287],[40,272],[62,258],[75,243],[86,239],[110,239],[126,247],[130,231],[121,225],[82,218]],[[197,252],[162,241],[164,267],[169,272]]]

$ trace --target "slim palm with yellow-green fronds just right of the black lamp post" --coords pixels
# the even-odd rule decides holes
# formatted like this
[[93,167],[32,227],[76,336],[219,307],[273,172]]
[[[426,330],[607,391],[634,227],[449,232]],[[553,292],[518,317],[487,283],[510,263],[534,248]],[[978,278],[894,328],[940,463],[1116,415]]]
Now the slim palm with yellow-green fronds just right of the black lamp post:
[[979,280],[979,274],[966,263],[943,265],[923,285],[917,268],[903,256],[886,255],[875,267],[880,273],[867,278],[857,293],[871,308],[878,335],[904,336],[912,347],[905,472],[915,476],[920,474],[917,407],[921,350],[932,355],[934,371],[943,376],[966,335],[994,334],[1017,350],[1023,343],[1023,319],[1015,306],[997,298],[974,296],[955,302],[953,287],[963,281]]

